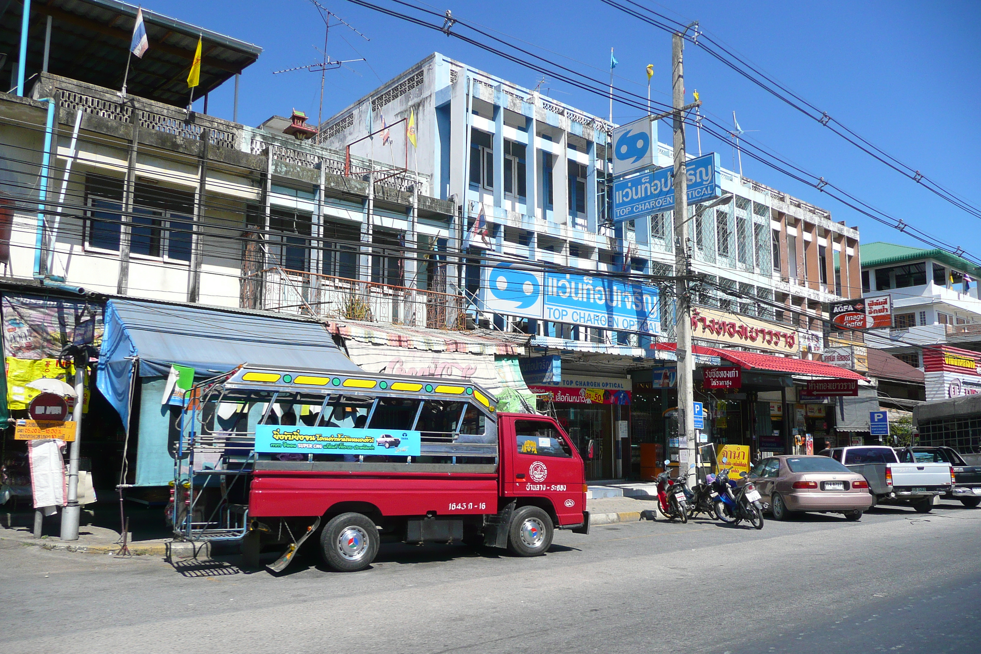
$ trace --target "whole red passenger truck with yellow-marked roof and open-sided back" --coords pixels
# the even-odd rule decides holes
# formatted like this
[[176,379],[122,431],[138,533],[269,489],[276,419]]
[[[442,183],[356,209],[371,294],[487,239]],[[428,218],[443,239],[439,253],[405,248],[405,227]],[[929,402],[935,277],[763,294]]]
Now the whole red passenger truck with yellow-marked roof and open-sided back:
[[536,556],[556,528],[589,532],[569,436],[545,416],[498,414],[475,384],[244,367],[199,397],[177,457],[184,539],[241,538],[252,559],[286,544],[282,570],[316,534],[328,565],[350,572],[384,541]]

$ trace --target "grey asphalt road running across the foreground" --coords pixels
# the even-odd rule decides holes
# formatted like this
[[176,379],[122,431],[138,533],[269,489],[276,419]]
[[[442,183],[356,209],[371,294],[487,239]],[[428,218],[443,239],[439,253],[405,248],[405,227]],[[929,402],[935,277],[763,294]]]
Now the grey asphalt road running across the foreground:
[[544,557],[383,546],[280,577],[0,541],[0,651],[981,651],[981,509],[558,532]]

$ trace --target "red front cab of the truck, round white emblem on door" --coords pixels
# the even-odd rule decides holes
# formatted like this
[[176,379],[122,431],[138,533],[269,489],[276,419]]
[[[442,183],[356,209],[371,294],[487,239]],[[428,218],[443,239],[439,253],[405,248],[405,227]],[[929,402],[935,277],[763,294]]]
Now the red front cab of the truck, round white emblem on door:
[[583,522],[583,462],[558,426],[548,419],[516,419],[504,438],[513,438],[508,490],[542,497],[555,509],[560,525]]

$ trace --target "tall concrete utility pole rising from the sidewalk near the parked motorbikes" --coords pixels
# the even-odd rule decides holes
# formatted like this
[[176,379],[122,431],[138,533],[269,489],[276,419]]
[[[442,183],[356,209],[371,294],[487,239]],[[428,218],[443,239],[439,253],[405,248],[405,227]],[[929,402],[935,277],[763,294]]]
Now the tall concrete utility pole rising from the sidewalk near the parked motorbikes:
[[691,472],[695,466],[695,355],[692,352],[692,306],[688,278],[688,177],[685,170],[685,74],[682,34],[671,38],[672,108],[674,110],[674,226],[675,226],[675,333],[678,337],[678,474]]

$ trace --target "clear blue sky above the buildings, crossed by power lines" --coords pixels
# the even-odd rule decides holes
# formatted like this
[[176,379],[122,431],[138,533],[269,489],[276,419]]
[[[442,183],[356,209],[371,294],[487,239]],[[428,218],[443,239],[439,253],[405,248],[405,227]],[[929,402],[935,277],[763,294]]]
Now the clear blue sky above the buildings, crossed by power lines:
[[[377,1],[394,6],[387,0]],[[981,39],[977,36],[981,3],[640,1],[679,21],[699,21],[703,31],[812,104],[981,207],[975,165],[981,144]],[[325,117],[433,51],[526,86],[539,80],[534,72],[458,39],[343,0],[324,4],[371,39],[342,25],[332,26],[328,52],[333,58],[365,57],[368,61],[327,74]],[[320,75],[305,71],[273,75],[273,71],[313,63],[319,57],[314,46],[323,45],[324,28],[308,0],[240,0],[233,5],[150,0],[145,6],[264,48],[259,61],[242,75],[241,122],[258,125],[273,114],[288,116],[292,107],[316,118]],[[230,6],[234,11],[229,11]],[[598,0],[458,0],[433,7],[439,12],[447,8],[472,23],[557,53],[539,51],[599,78],[607,78],[609,48],[615,47],[617,85],[644,94],[645,66],[652,63],[652,99],[670,99],[670,35],[639,24]],[[735,111],[748,137],[905,223],[981,258],[981,220],[872,160],[697,47],[686,49],[685,73],[689,94],[697,89],[705,111],[720,122],[731,125]],[[552,80],[542,87],[574,107],[598,116],[608,113],[607,100],[586,91]],[[212,94],[210,112],[232,118],[231,82]],[[636,110],[614,105],[617,123],[639,117]],[[670,142],[666,127],[661,127],[660,140]],[[689,131],[688,142],[689,150],[695,151],[694,130]],[[731,144],[703,135],[702,150],[720,152],[723,165],[732,166]],[[836,221],[858,226],[864,242],[918,245],[746,157],[743,168],[746,176],[824,207]]]

